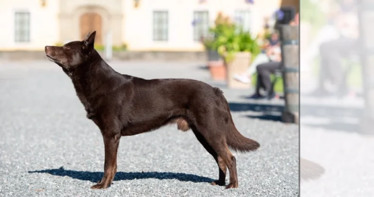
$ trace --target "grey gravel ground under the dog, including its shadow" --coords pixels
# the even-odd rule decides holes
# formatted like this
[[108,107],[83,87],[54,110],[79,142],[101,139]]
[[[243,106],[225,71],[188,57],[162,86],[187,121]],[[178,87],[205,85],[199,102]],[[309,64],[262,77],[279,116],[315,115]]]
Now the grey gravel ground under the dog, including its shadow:
[[242,98],[249,91],[225,89],[198,64],[110,64],[146,79],[191,78],[221,87],[238,130],[262,145],[253,153],[234,153],[239,188],[211,186],[218,178],[215,161],[192,132],[172,125],[122,138],[112,186],[91,190],[103,175],[104,145],[98,128],[85,118],[70,79],[51,62],[2,62],[1,197],[299,196],[298,126],[274,121],[279,113],[259,112],[263,107],[281,109],[282,100],[251,102]]

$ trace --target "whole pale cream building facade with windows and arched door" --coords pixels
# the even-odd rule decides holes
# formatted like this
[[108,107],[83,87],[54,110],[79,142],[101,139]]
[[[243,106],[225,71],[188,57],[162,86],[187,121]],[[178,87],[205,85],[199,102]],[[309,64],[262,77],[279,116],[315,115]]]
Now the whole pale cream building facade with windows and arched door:
[[0,50],[43,50],[96,30],[96,43],[134,51],[201,51],[219,12],[256,35],[281,5],[299,0],[0,0]]

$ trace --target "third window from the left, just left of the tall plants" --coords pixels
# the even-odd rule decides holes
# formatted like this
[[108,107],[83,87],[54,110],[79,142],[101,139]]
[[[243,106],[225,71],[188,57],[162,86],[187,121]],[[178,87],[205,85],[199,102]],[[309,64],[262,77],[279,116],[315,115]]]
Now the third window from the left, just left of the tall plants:
[[207,37],[209,33],[209,13],[208,11],[193,12],[193,40],[200,41]]

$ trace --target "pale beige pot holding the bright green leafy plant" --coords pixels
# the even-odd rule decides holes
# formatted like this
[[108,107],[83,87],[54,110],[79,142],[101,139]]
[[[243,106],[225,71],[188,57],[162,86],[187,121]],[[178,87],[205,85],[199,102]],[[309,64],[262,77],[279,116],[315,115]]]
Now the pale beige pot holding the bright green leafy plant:
[[227,85],[229,88],[248,89],[251,84],[245,84],[235,80],[235,74],[242,75],[249,67],[251,62],[251,53],[239,52],[235,54],[235,58],[231,62],[225,62],[227,67]]

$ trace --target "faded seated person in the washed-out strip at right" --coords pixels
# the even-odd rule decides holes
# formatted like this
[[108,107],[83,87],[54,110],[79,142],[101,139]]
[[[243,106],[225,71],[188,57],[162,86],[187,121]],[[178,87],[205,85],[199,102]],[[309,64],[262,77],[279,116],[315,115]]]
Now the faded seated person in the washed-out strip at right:
[[[343,69],[342,60],[350,55],[357,54],[358,50],[358,18],[355,0],[343,0],[339,4],[337,13],[331,17],[331,25],[335,27],[337,38],[325,41],[319,46],[320,69],[318,87],[313,96],[346,96],[349,91]],[[309,58],[311,59],[311,58]],[[333,82],[335,91],[328,91],[326,82]]]

